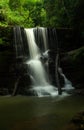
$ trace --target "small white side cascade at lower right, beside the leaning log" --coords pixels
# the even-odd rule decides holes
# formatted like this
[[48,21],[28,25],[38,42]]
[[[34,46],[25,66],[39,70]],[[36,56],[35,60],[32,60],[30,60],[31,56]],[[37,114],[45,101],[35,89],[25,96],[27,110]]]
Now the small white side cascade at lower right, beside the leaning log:
[[62,90],[67,92],[72,91],[74,87],[72,86],[71,81],[69,81],[67,77],[63,74],[62,69],[60,67],[58,68],[58,72],[64,78],[64,87],[62,88]]

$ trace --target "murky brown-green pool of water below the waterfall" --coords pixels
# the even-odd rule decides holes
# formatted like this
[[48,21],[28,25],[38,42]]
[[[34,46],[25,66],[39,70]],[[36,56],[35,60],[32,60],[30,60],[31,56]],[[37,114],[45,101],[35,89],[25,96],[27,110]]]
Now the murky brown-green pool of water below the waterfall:
[[0,130],[63,130],[84,110],[84,96],[0,97]]

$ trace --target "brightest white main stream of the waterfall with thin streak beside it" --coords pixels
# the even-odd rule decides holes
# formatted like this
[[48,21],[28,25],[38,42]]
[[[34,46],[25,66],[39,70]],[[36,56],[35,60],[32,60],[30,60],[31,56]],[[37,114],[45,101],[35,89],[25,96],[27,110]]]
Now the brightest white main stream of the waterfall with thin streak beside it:
[[[46,51],[47,45],[46,45],[46,37],[45,37],[45,29],[42,29],[42,36],[44,41],[44,50]],[[44,32],[43,32],[44,31]],[[40,52],[40,49],[38,48],[35,40],[34,35],[34,28],[32,29],[25,29],[28,46],[29,46],[29,54],[30,59],[26,62],[30,69],[30,75],[32,75],[34,82],[31,87],[31,91],[33,91],[36,95],[39,97],[44,95],[51,95],[55,96],[57,95],[57,88],[50,85],[49,83],[49,77],[45,71],[45,68],[40,60],[42,52]]]

